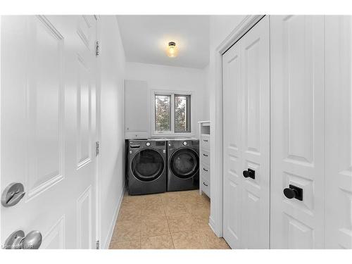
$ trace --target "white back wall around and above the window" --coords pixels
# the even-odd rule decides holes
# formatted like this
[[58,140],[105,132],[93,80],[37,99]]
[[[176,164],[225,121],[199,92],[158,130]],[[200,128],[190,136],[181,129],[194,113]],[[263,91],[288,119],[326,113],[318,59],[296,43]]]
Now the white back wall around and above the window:
[[[198,121],[203,120],[204,91],[206,74],[203,69],[172,67],[147,63],[126,63],[126,79],[148,82],[149,94],[152,90],[175,90],[193,92],[191,108],[191,132],[198,135]],[[151,96],[149,96],[149,115],[151,115]]]

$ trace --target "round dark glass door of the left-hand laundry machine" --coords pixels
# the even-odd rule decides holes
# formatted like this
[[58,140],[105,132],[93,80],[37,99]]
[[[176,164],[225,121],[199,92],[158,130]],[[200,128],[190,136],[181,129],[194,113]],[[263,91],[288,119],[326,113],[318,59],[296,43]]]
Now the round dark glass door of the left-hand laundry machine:
[[161,153],[153,149],[143,149],[133,157],[131,169],[134,177],[138,180],[150,182],[160,177],[164,165]]

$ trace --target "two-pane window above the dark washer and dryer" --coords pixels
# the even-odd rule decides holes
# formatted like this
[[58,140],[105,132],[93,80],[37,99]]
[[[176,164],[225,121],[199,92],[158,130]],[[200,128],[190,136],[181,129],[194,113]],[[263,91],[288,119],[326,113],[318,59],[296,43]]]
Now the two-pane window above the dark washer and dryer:
[[154,133],[191,132],[191,94],[154,92]]

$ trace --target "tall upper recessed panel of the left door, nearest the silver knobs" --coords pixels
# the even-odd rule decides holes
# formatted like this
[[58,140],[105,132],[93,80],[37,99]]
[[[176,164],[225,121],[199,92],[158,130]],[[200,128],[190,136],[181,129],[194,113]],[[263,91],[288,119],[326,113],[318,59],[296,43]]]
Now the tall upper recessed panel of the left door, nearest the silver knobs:
[[[26,201],[64,177],[63,35],[44,15],[30,16],[27,67]],[[50,62],[49,62],[49,61]],[[43,98],[45,98],[43,100]],[[49,123],[50,122],[50,123]]]

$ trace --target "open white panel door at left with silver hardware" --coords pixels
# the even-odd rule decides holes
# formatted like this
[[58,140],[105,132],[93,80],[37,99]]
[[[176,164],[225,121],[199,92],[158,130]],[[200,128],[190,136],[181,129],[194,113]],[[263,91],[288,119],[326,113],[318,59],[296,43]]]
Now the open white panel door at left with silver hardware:
[[1,17],[1,244],[39,230],[41,249],[92,249],[95,230],[96,18]]

